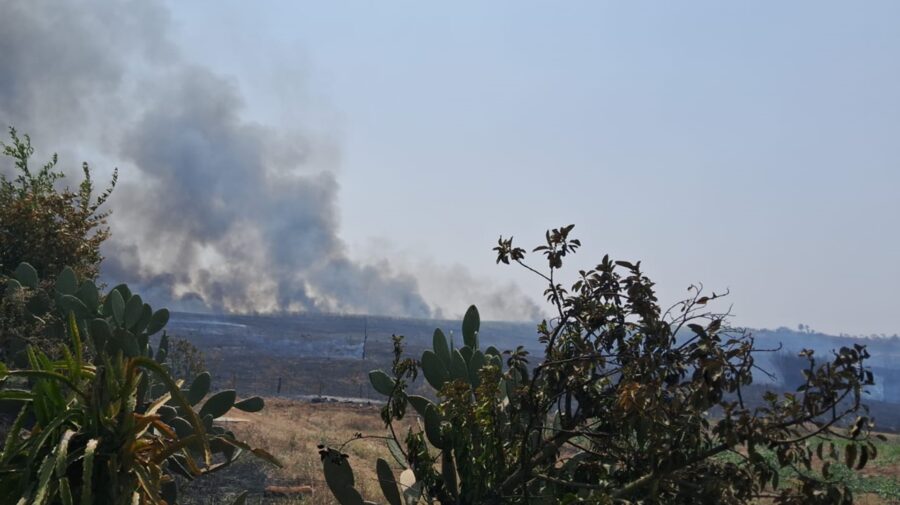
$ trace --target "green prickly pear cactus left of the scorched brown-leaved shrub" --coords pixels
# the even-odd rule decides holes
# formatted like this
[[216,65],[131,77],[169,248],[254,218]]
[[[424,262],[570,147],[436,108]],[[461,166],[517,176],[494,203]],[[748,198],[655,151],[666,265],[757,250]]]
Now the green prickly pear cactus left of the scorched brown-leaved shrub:
[[[418,361],[402,360],[402,347],[397,340],[391,373],[369,373],[372,387],[388,400],[382,418],[391,427],[388,446],[395,468],[379,459],[376,472],[384,499],[390,505],[412,505],[423,500],[473,503],[467,500],[490,495],[486,490],[494,482],[484,480],[491,475],[485,469],[491,465],[502,468],[504,458],[489,446],[497,442],[492,437],[500,431],[498,426],[508,422],[503,405],[509,405],[510,393],[515,394],[518,375],[510,370],[503,373],[501,354],[496,348],[480,349],[479,328],[480,316],[473,305],[463,319],[462,347],[452,348],[444,332],[436,329],[432,348],[425,350]],[[409,379],[419,371],[433,390],[432,399],[406,393]],[[400,440],[391,423],[402,419],[410,410],[408,407],[416,415],[419,429],[409,430]],[[347,455],[325,447],[320,447],[319,453],[329,489],[338,502],[366,503],[354,487]],[[491,460],[494,456],[499,459]]]

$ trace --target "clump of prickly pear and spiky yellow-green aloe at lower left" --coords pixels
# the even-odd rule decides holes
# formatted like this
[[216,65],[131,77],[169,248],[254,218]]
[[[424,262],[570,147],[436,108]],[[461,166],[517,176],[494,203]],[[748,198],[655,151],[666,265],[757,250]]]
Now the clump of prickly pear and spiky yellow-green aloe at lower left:
[[[7,296],[38,286],[29,265],[16,272]],[[214,424],[232,407],[261,410],[261,398],[236,401],[229,390],[203,401],[209,373],[186,389],[172,378],[168,337],[162,334],[155,352],[150,343],[168,311],[154,312],[124,285],[101,297],[70,268],[53,290],[67,321],[63,358],[29,346],[27,369],[0,366],[0,401],[18,409],[0,452],[0,496],[38,505],[175,503],[175,475],[205,475],[245,451],[277,464]]]

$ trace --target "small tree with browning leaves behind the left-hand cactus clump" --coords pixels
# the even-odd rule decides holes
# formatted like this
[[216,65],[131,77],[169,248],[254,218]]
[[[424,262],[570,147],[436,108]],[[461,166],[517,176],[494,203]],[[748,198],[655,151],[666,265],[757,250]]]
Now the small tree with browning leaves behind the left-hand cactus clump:
[[[13,161],[12,179],[0,173],[0,361],[10,361],[26,343],[50,349],[50,342],[63,337],[63,325],[54,317],[55,296],[48,286],[54,276],[69,266],[81,278],[95,280],[100,261],[100,245],[109,236],[106,219],[109,212],[99,208],[115,187],[118,172],[103,193],[96,198],[94,182],[87,163],[82,165],[84,179],[77,191],[57,186],[65,176],[56,170],[57,156],[35,169],[28,135],[19,137],[9,130],[11,143],[0,143],[3,154]],[[5,297],[5,278],[27,262],[41,274],[43,295],[36,301],[43,306],[39,318],[26,317],[25,307],[15,297]],[[37,305],[30,308],[37,312]],[[50,336],[49,342],[45,337]]]

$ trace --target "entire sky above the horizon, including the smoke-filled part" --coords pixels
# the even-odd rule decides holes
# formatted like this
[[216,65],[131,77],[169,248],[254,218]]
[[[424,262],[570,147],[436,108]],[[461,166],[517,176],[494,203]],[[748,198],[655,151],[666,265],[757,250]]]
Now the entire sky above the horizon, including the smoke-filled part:
[[[55,78],[26,65],[5,95],[0,79],[0,122],[119,166],[109,275],[188,309],[457,316],[476,303],[486,319],[531,319],[541,282],[491,248],[573,223],[570,274],[609,253],[642,260],[664,303],[692,283],[730,290],[737,324],[900,332],[896,2],[112,3],[48,27],[35,12],[59,9],[38,2],[17,26],[82,23],[87,42],[39,49],[72,63],[91,43],[100,58],[83,61],[110,77],[58,86],[116,103],[84,102],[87,133],[61,133],[46,104],[11,105]],[[36,51],[20,32],[5,48]],[[31,61],[3,54],[7,75]],[[230,182],[209,182],[218,165],[197,161],[200,145],[225,153]],[[206,182],[188,180],[192,163]],[[219,214],[234,201],[249,217]],[[135,238],[179,214],[199,224]]]

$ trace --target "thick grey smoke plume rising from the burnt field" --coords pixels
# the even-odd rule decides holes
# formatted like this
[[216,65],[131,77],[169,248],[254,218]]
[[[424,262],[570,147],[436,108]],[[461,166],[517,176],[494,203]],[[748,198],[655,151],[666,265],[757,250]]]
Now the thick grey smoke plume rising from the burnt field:
[[349,259],[329,146],[248,120],[233,83],[179,54],[164,5],[0,13],[0,125],[120,168],[107,282],[183,310],[435,313],[412,277]]

